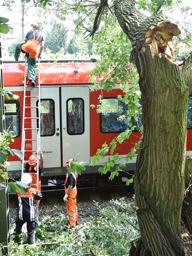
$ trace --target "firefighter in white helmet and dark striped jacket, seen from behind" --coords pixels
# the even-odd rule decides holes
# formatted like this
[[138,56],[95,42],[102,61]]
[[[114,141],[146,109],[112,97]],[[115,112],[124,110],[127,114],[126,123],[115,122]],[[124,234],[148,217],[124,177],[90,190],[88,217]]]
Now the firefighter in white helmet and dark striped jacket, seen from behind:
[[24,194],[21,195],[19,191],[16,190],[19,206],[17,208],[17,217],[15,219],[16,228],[13,237],[21,236],[22,226],[27,222],[27,247],[32,248],[35,246],[34,232],[37,227],[36,200],[41,200],[43,196],[40,191],[32,188],[32,177],[29,173],[24,173],[21,177],[21,182],[17,183],[24,188]]

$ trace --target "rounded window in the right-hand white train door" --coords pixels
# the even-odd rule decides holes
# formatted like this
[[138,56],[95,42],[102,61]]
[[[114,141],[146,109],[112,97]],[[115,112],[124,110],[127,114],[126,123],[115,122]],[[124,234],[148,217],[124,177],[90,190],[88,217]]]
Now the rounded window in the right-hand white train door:
[[67,107],[67,133],[80,135],[85,130],[84,126],[84,100],[82,98],[70,98],[66,102]]

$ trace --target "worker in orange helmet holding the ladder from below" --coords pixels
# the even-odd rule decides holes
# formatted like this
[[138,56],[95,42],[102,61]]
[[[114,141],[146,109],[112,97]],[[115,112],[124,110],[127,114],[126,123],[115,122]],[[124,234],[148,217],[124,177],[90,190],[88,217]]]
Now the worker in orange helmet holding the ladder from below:
[[[41,149],[38,151],[40,156],[39,164],[38,164],[38,190],[41,191],[41,170],[43,169],[43,152]],[[32,177],[32,188],[37,188],[37,157],[35,155],[31,155],[29,157],[29,162],[24,161],[24,168],[26,169],[26,173],[30,173]]]

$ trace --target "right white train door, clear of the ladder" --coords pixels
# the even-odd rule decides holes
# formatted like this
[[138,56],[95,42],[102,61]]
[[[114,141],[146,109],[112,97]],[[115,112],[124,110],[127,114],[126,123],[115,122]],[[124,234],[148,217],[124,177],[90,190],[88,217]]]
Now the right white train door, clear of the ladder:
[[90,162],[89,95],[87,86],[61,88],[63,164],[77,154],[78,161]]

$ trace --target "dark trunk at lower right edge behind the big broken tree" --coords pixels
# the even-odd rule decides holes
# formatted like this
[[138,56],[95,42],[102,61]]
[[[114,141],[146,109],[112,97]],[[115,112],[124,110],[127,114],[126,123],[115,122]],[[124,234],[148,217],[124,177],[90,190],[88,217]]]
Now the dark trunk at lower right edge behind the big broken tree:
[[[185,224],[192,234],[192,157],[186,160],[186,169],[185,169],[185,186],[186,193],[183,199],[182,214],[185,219]],[[191,185],[191,186],[190,186]]]

